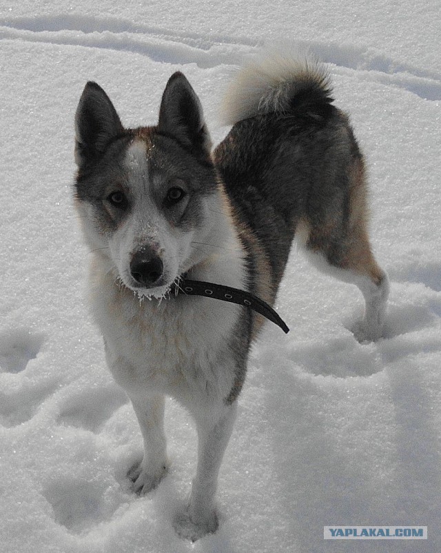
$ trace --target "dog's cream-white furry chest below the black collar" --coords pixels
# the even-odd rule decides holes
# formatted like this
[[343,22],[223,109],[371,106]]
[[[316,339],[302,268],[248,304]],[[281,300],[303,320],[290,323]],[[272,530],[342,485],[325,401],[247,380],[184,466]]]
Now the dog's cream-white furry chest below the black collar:
[[92,287],[92,308],[110,370],[127,392],[186,400],[201,392],[229,393],[237,306],[194,297],[140,302],[112,285]]

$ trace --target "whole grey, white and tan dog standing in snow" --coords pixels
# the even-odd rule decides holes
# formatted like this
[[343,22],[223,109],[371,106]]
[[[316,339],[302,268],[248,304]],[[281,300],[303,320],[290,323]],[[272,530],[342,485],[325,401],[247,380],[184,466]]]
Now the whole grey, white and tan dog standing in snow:
[[181,72],[165,87],[157,125],[124,128],[92,82],[76,111],[75,204],[92,252],[92,311],[145,449],[128,476],[145,494],[167,473],[164,396],[173,396],[198,431],[196,476],[174,521],[192,541],[218,527],[220,463],[265,319],[246,306],[170,292],[181,279],[273,305],[296,235],[319,268],[360,288],[362,338],[382,335],[388,281],[367,236],[362,154],[330,94],[327,72],[310,59],[249,63],[229,89],[225,120],[233,126],[213,153]]

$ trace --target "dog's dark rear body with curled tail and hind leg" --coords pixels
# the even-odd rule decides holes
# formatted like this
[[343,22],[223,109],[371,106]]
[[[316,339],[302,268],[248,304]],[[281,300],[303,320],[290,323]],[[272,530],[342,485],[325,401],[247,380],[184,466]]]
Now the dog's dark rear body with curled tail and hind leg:
[[274,51],[232,82],[223,120],[234,123],[214,159],[236,210],[258,237],[278,287],[296,234],[319,268],[365,297],[359,339],[382,335],[387,276],[371,252],[367,183],[347,115],[308,56]]

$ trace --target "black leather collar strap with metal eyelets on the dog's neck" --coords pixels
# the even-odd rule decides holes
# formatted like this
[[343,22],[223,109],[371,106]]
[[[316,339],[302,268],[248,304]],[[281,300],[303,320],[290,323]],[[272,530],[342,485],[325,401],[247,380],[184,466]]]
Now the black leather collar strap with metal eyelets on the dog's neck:
[[185,277],[179,279],[178,284],[172,286],[170,290],[172,294],[186,294],[188,296],[205,296],[206,298],[219,299],[221,301],[229,301],[229,303],[237,303],[246,308],[252,309],[261,315],[265,316],[271,323],[278,325],[285,334],[289,332],[289,328],[283,319],[271,308],[265,301],[258,298],[254,294],[231,288],[220,284],[204,281],[192,281]]

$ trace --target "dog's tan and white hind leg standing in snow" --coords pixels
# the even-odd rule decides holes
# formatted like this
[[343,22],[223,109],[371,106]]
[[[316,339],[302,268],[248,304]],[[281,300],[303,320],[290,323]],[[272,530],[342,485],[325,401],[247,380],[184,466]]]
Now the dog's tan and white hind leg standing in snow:
[[[353,148],[356,145],[353,143]],[[365,316],[354,331],[360,341],[375,341],[384,332],[389,280],[373,257],[367,220],[367,183],[361,154],[336,173],[327,186],[311,191],[305,215],[296,227],[299,245],[323,272],[358,286]]]

